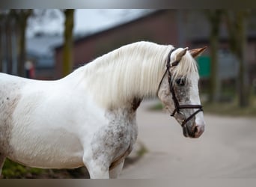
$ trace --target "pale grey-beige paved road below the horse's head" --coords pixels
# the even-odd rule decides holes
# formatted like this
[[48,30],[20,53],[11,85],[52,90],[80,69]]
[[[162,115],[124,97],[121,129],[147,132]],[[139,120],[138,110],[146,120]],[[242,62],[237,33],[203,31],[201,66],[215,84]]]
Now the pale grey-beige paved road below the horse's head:
[[204,115],[198,139],[183,137],[178,123],[163,111],[138,108],[138,141],[148,152],[120,178],[256,178],[256,118]]

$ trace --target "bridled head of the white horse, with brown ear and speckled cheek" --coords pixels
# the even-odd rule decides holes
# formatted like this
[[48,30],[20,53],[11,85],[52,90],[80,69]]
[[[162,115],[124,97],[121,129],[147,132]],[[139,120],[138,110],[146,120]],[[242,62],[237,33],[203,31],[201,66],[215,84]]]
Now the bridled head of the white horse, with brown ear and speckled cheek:
[[157,92],[162,104],[183,127],[183,135],[190,138],[198,138],[204,132],[198,68],[194,58],[205,49],[172,49]]

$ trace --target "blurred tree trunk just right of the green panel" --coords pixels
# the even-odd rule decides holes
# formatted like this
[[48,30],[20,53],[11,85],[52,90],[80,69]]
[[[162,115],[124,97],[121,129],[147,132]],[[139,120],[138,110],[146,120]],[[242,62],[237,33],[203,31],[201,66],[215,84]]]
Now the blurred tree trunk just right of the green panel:
[[219,101],[220,81],[219,81],[219,26],[222,21],[222,10],[205,10],[208,21],[210,22],[210,96],[209,102]]

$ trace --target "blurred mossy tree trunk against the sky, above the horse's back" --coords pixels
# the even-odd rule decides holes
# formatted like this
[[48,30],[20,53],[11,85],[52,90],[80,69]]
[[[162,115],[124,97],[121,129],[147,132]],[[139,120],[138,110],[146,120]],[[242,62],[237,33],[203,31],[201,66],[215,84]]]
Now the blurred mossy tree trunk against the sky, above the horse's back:
[[64,10],[64,56],[63,56],[63,76],[67,76],[73,69],[73,25],[74,10]]

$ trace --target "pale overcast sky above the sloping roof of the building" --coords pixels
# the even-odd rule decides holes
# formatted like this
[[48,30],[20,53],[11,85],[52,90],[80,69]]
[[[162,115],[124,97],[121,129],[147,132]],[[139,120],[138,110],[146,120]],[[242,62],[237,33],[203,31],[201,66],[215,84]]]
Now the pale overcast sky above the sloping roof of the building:
[[[148,9],[77,9],[75,10],[74,33],[88,34],[119,25],[122,22],[138,18],[149,13]],[[59,11],[55,19],[30,19],[27,35],[31,37],[37,31],[61,34],[64,29],[64,16]],[[47,17],[47,16],[45,16]],[[43,20],[43,21],[42,21]]]

